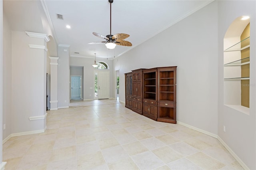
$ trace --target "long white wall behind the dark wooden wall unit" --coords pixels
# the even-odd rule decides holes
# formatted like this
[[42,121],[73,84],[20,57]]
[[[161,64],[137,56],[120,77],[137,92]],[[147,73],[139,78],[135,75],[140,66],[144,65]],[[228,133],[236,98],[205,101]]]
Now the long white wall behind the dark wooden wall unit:
[[120,70],[120,100],[125,101],[124,73],[133,69],[177,67],[177,121],[217,134],[217,2],[198,10],[114,60]]

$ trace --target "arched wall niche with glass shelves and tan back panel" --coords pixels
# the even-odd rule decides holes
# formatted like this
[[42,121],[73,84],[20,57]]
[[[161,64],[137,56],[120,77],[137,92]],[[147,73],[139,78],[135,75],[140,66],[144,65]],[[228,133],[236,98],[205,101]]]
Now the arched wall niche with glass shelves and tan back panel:
[[224,105],[249,114],[250,19],[236,18],[224,36]]

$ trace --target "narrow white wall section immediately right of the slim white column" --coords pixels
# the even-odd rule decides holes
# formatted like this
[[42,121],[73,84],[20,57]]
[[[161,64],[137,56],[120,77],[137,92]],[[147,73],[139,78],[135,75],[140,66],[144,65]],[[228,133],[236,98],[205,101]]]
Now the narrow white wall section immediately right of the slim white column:
[[69,105],[69,47],[58,46],[58,108]]

